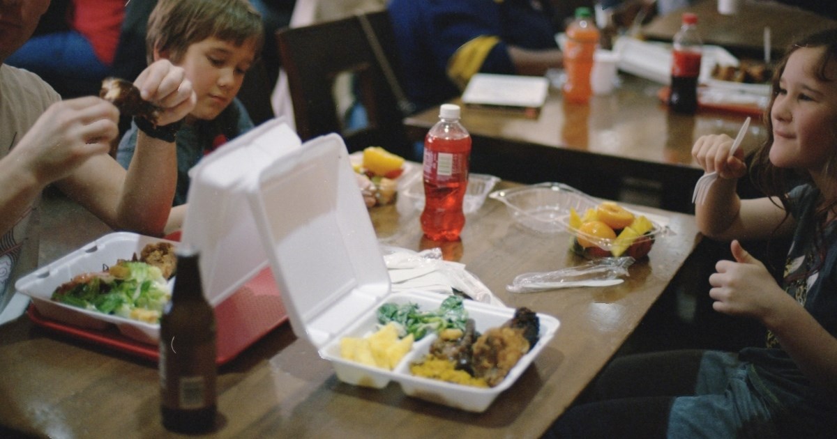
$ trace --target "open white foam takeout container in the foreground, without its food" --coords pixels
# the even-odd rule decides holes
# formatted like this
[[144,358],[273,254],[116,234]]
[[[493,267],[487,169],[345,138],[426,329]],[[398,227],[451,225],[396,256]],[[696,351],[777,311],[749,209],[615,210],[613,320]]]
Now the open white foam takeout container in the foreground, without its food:
[[[538,314],[539,342],[500,385],[490,389],[410,375],[409,362],[428,351],[432,337],[419,340],[395,370],[342,359],[340,340],[376,330],[376,313],[382,304],[409,301],[422,309],[438,309],[444,300],[444,295],[429,291],[391,292],[381,249],[353,172],[341,137],[326,135],[306,142],[300,150],[265,169],[258,187],[249,193],[292,329],[316,346],[341,381],[373,388],[394,381],[408,396],[466,411],[485,411],[552,339],[558,329],[557,319]],[[465,309],[478,330],[499,326],[514,314],[514,309],[470,300],[465,301]]]

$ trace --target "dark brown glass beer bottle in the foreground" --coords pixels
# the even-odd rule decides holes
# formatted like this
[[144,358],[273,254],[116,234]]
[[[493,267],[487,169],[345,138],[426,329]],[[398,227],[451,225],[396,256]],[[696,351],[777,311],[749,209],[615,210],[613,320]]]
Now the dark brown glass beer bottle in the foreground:
[[172,300],[160,319],[160,408],[167,429],[213,429],[218,368],[215,339],[215,314],[203,296],[198,253],[181,248]]

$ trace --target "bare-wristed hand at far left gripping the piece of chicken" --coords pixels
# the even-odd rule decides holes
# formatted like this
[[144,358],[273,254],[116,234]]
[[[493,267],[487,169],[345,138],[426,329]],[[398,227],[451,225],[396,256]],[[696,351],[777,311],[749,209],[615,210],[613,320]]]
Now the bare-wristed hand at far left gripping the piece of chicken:
[[46,186],[69,176],[91,156],[107,154],[119,135],[119,111],[95,96],[50,105],[9,156]]

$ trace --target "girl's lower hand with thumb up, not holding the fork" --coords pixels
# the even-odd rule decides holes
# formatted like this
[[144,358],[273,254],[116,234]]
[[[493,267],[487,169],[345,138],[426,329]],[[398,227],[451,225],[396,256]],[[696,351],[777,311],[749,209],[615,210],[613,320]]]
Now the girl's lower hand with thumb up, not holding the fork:
[[730,245],[732,261],[718,261],[709,277],[712,308],[724,314],[752,317],[764,322],[786,300],[793,300],[779,287],[764,264],[747,253],[737,240]]

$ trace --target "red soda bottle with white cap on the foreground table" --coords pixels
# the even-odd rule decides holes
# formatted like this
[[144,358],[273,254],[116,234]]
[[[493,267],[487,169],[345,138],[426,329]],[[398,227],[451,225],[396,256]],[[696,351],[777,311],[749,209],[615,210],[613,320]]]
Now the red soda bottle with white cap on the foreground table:
[[462,201],[468,189],[471,138],[460,124],[459,105],[444,104],[439,122],[424,137],[424,212],[421,227],[433,241],[455,241],[465,227]]

